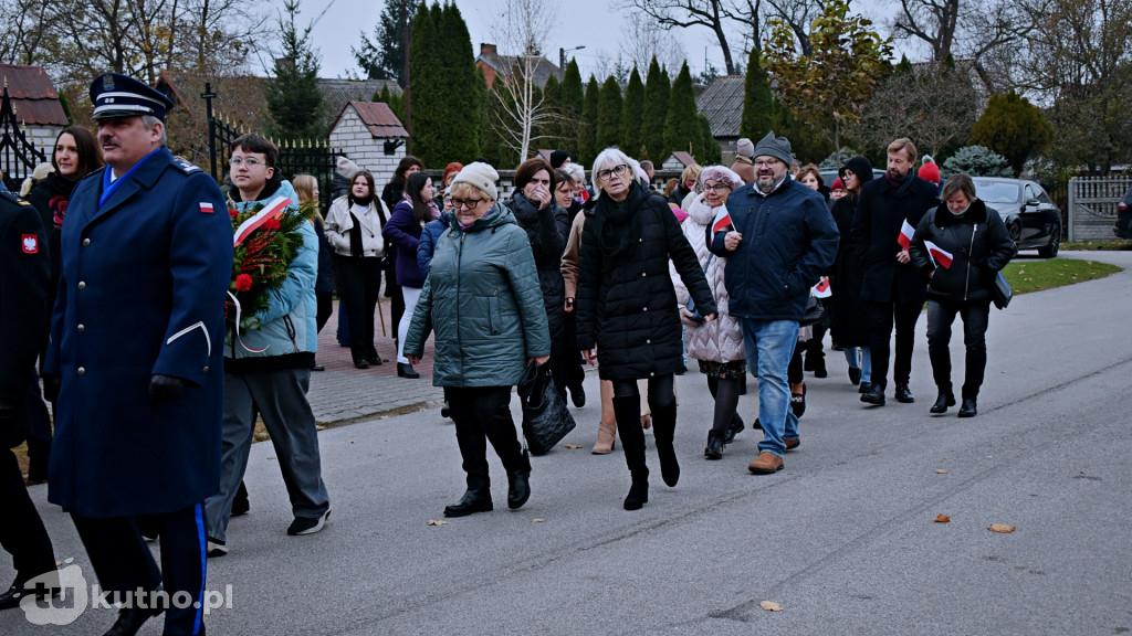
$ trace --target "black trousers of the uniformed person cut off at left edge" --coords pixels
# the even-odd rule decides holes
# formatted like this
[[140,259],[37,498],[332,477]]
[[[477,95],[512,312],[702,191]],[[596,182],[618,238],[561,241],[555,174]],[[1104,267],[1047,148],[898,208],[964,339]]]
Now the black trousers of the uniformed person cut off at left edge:
[[[0,547],[11,555],[16,568],[14,583],[23,584],[55,569],[51,538],[27,495],[19,462],[15,453],[7,448],[0,450],[0,509],[5,510],[3,523],[0,523]],[[7,591],[7,587],[3,590]]]

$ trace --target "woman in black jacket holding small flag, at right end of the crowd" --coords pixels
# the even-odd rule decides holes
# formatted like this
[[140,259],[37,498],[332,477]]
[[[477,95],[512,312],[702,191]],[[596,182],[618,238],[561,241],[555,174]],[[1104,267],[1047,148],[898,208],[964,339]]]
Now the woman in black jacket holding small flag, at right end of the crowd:
[[[943,204],[920,220],[908,256],[928,282],[927,350],[940,395],[935,414],[955,404],[951,389],[951,324],[963,319],[967,370],[960,418],[978,413],[977,398],[987,363],[987,319],[990,285],[995,275],[1014,257],[1014,241],[1002,217],[975,198],[975,183],[967,174],[954,174],[943,186]],[[949,263],[950,259],[950,263]]]

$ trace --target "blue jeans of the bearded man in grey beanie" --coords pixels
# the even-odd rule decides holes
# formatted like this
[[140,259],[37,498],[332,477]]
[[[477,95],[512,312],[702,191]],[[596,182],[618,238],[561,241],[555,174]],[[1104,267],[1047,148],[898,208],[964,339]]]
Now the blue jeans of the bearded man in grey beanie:
[[798,438],[798,416],[790,409],[787,367],[798,343],[798,323],[794,320],[741,319],[747,366],[758,377],[758,422],[763,427],[760,452],[781,457],[783,439]]

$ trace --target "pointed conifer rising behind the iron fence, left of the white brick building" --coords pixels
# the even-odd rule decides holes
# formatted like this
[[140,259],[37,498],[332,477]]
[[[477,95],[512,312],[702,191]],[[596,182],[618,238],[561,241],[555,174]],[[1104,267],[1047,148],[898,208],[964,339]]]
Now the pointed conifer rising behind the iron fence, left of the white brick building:
[[295,16],[299,0],[283,5],[278,19],[282,34],[282,57],[275,60],[275,77],[267,81],[266,124],[269,137],[277,139],[321,139],[326,137],[323,120],[323,93],[318,89],[318,55],[310,48],[310,27],[299,31]]

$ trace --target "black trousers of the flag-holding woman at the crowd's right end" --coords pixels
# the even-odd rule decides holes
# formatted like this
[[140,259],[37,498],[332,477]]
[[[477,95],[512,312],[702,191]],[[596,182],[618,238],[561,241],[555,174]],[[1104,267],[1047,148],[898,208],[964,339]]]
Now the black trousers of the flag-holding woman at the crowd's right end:
[[927,301],[927,353],[932,358],[932,376],[942,392],[951,390],[951,324],[955,315],[963,319],[963,345],[967,364],[963,375],[963,399],[976,399],[987,368],[987,323],[990,301]]

